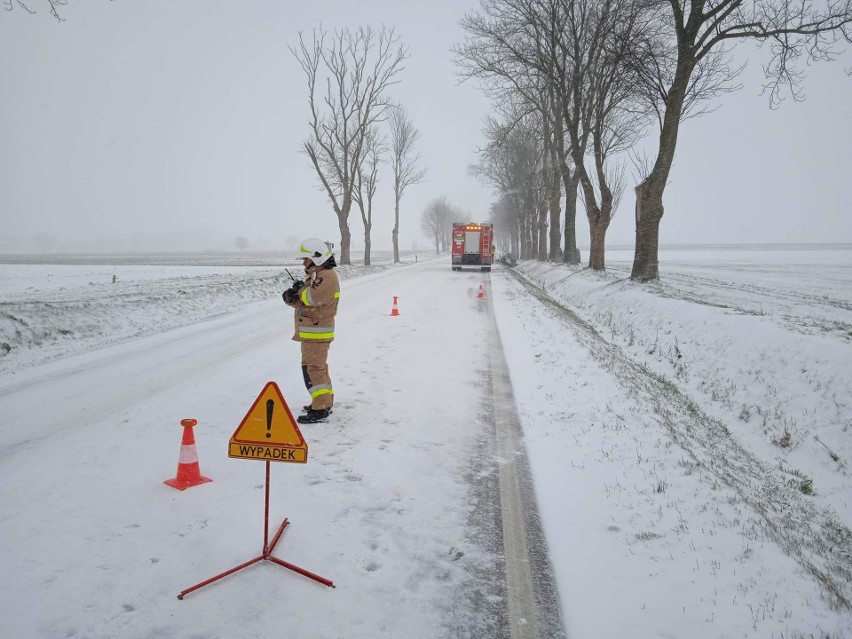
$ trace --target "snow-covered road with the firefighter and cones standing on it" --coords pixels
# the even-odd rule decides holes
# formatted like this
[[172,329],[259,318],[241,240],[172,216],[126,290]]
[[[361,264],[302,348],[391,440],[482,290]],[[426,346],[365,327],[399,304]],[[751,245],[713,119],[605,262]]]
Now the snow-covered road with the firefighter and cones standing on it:
[[[525,518],[499,503],[535,500],[482,282],[438,261],[343,284],[335,413],[303,427],[306,466],[273,465],[270,508],[272,527],[291,521],[276,554],[334,590],[263,564],[175,597],[260,550],[263,465],[227,441],[266,381],[306,399],[277,300],[6,375],[0,607],[16,635],[545,636],[536,617],[561,633],[546,555],[518,554]],[[162,481],[184,417],[214,481],[177,493]]]

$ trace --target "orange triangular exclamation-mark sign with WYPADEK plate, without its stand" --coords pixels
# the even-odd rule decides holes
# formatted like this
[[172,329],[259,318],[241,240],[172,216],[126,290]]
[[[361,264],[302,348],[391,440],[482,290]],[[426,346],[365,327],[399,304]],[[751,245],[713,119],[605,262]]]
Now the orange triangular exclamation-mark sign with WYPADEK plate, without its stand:
[[275,382],[268,382],[231,436],[229,457],[305,463],[308,444]]

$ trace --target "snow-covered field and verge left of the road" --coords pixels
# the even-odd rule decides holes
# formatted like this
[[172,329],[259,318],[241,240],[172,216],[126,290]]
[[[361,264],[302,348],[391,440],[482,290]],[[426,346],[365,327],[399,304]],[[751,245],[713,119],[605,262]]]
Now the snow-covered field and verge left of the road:
[[[206,256],[202,264],[211,259]],[[274,268],[0,263],[0,372],[186,326],[268,300],[290,286],[285,268],[296,277],[302,272],[296,260],[279,263]],[[380,259],[369,267],[343,266],[339,272],[341,279],[348,279],[391,265],[390,260]]]

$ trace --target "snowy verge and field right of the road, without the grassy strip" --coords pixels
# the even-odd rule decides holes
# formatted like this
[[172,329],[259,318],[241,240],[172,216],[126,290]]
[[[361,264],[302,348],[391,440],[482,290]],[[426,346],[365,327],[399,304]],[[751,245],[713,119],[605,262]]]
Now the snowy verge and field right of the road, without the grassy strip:
[[[794,267],[749,271],[747,262],[737,266],[746,286],[731,286],[718,263],[670,269],[652,285],[626,280],[624,264],[604,274],[537,262],[516,271],[727,427],[746,458],[780,465],[774,476],[789,485],[779,490],[794,502],[840,518],[841,555],[835,563],[827,554],[848,593],[852,341],[842,328],[807,329],[850,323],[852,264],[819,271],[832,282],[828,296],[818,279],[785,286]],[[775,514],[767,523],[742,484],[720,481],[662,426],[670,407],[590,357],[576,326],[508,272],[492,285],[508,302],[495,308],[569,636],[847,636],[849,610],[833,610],[834,597],[808,574],[813,564],[801,554],[811,549],[782,552],[786,531],[768,530]],[[791,300],[806,312],[791,313]],[[737,310],[746,303],[763,312]],[[793,422],[795,439],[778,439],[800,415],[810,419]],[[809,487],[815,494],[796,492]]]

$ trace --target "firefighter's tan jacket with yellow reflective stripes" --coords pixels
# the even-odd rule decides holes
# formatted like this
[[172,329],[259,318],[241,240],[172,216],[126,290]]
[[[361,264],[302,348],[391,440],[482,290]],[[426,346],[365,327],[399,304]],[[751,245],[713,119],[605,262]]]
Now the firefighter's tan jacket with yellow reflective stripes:
[[305,269],[305,286],[297,300],[288,304],[296,313],[297,342],[334,341],[334,316],[340,299],[340,280],[333,269],[309,266]]

